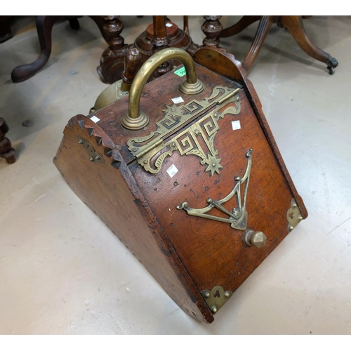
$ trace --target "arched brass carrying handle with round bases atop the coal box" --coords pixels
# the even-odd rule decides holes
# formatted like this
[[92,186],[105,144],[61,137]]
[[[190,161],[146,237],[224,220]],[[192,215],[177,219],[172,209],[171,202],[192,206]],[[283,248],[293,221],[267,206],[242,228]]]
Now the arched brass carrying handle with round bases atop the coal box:
[[187,74],[186,81],[179,86],[179,90],[187,95],[195,95],[204,90],[204,84],[197,80],[194,61],[192,57],[180,48],[165,48],[152,55],[135,75],[131,89],[129,90],[128,114],[122,119],[122,126],[131,130],[142,129],[149,124],[149,117],[144,112],[140,112],[140,97],[143,88],[159,65],[168,60],[178,60],[183,63]]

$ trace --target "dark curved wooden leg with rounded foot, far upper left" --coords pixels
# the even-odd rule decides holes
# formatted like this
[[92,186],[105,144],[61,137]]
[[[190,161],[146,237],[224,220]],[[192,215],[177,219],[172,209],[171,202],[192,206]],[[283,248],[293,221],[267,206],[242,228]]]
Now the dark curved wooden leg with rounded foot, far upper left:
[[33,77],[41,67],[44,67],[51,55],[51,31],[56,21],[64,16],[37,16],[37,32],[40,43],[40,55],[36,61],[29,65],[15,67],[11,73],[13,83],[25,81]]

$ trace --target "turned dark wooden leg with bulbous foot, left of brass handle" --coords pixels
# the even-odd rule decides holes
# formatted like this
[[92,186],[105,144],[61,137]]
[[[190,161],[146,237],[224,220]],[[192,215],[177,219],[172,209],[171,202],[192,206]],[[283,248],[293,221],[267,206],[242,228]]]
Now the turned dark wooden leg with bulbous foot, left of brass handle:
[[121,37],[124,26],[119,16],[102,16],[102,20],[102,36],[109,47],[102,53],[97,70],[102,81],[112,84],[121,79],[121,73],[124,71],[124,56],[132,46],[124,44],[124,38]]

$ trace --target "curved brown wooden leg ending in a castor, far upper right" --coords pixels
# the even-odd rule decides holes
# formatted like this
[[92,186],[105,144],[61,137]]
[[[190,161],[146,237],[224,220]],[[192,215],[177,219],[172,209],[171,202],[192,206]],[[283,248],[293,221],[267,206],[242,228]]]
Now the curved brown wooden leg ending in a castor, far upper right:
[[310,55],[315,60],[326,63],[329,74],[334,74],[335,67],[338,66],[338,60],[331,57],[329,53],[321,50],[308,39],[303,27],[303,21],[300,16],[281,16],[280,22],[282,25],[289,30],[290,34],[293,36],[293,39],[296,40],[296,43],[300,48]]

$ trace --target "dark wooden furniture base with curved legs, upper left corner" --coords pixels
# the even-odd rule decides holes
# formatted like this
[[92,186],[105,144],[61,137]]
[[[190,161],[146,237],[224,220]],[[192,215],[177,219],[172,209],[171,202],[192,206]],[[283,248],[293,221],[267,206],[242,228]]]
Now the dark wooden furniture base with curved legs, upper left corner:
[[[79,21],[78,19],[83,16],[37,16],[37,32],[39,37],[40,44],[40,54],[39,58],[28,65],[21,65],[15,67],[11,72],[11,79],[14,83],[18,83],[20,81],[25,81],[30,77],[33,77],[37,72],[46,65],[48,59],[51,55],[51,32],[53,29],[53,25],[55,22],[68,20],[69,25],[72,29],[79,29]],[[105,31],[102,29],[102,16],[88,16],[90,17],[96,25],[98,25],[102,36],[109,43],[109,37],[105,34]]]

